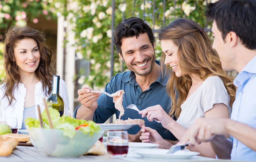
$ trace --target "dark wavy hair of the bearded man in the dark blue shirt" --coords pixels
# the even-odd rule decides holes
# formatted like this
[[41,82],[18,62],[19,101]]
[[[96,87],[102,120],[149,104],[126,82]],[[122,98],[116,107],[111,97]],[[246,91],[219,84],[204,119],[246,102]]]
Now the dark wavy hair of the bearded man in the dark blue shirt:
[[148,24],[146,24],[142,19],[136,17],[124,19],[124,21],[119,23],[115,29],[113,42],[116,46],[116,51],[118,51],[122,55],[121,46],[123,38],[129,38],[134,36],[138,38],[140,33],[145,32],[148,34],[149,41],[153,46],[155,38],[152,29],[148,26]]

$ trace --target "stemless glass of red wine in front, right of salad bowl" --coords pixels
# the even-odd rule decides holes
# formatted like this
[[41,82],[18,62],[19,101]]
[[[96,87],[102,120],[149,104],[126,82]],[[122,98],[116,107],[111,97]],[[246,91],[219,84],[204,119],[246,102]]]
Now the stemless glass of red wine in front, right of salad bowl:
[[128,153],[129,140],[126,130],[108,131],[107,151],[112,158],[125,157]]

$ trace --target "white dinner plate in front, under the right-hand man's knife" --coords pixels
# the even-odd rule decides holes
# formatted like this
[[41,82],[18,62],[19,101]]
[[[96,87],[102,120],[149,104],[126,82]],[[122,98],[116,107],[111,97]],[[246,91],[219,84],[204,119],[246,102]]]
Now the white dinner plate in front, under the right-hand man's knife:
[[195,155],[200,154],[199,152],[193,151],[177,151],[172,154],[167,154],[168,149],[145,149],[145,150],[136,150],[136,153],[142,156],[143,158],[148,159],[188,159]]

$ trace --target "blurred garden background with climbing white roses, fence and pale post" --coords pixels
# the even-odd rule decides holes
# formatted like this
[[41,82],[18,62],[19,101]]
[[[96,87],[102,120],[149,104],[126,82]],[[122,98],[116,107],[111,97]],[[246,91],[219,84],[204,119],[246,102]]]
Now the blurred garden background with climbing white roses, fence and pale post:
[[[12,25],[44,30],[53,50],[52,65],[67,83],[70,108],[80,104],[77,90],[103,90],[109,79],[128,70],[112,44],[115,26],[124,18],[142,18],[156,37],[156,59],[161,45],[157,32],[176,18],[198,22],[211,36],[206,5],[216,0],[2,0],[0,1],[0,59],[4,33]],[[236,76],[236,72],[229,75]],[[4,79],[3,59],[0,79]],[[74,104],[73,104],[74,103]]]

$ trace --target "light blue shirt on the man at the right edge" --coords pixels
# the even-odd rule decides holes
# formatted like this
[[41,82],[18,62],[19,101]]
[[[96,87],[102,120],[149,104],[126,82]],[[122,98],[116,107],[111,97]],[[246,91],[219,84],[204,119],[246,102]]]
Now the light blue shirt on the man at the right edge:
[[[237,91],[231,119],[256,128],[256,56],[237,75],[234,85]],[[231,160],[256,160],[256,152],[233,137]]]

